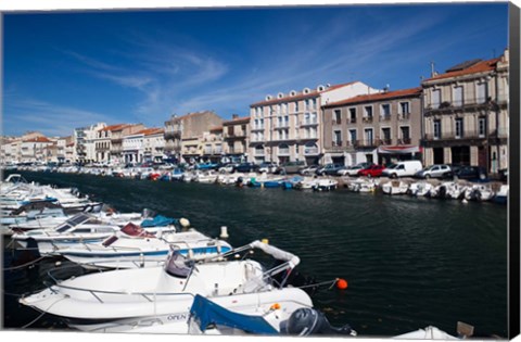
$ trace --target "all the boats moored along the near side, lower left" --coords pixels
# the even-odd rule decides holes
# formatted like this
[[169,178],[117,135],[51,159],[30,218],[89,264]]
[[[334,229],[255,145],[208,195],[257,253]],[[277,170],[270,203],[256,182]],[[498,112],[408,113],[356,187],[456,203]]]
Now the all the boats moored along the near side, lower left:
[[[332,327],[314,307],[318,284],[295,270],[301,261],[289,251],[266,240],[232,246],[226,229],[211,238],[186,218],[149,210],[117,213],[85,202],[67,211],[50,195],[55,192],[86,200],[20,175],[1,183],[1,227],[13,246],[37,254],[35,262],[72,262],[49,270],[52,283],[20,297],[23,305],[93,332],[356,335],[348,325]],[[17,207],[3,206],[14,199]],[[50,204],[62,213],[50,214]],[[271,257],[269,267],[260,255]],[[78,265],[84,275],[62,279],[65,267]],[[434,327],[398,338],[453,339]]]

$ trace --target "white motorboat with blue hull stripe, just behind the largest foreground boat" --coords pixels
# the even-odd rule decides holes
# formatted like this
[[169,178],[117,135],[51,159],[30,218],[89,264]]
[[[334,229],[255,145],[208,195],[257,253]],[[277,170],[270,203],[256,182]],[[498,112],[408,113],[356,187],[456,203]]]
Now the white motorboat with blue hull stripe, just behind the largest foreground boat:
[[226,241],[208,238],[194,229],[152,235],[132,226],[125,226],[122,233],[101,243],[77,243],[58,249],[54,253],[86,268],[136,268],[163,265],[173,246],[191,259],[231,250]]

